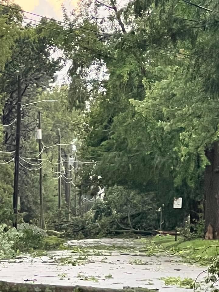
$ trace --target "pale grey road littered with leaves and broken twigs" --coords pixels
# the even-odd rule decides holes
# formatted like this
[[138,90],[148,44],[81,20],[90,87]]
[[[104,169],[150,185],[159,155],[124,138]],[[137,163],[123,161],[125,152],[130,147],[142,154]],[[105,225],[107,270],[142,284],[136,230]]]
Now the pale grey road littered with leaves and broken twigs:
[[174,256],[145,256],[144,243],[137,239],[73,240],[68,244],[70,249],[49,251],[41,257],[1,261],[0,280],[23,283],[28,279],[57,285],[131,286],[157,288],[161,292],[189,292],[193,290],[165,286],[160,278],[195,279],[205,269],[182,264]]

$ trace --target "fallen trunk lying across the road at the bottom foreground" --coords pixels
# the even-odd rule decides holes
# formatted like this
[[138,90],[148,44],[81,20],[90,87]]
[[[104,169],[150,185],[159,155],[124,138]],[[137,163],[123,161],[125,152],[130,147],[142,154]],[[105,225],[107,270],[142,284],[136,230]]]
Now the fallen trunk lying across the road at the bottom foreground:
[[155,292],[158,289],[123,287],[123,289],[97,288],[89,286],[60,286],[0,281],[1,292]]

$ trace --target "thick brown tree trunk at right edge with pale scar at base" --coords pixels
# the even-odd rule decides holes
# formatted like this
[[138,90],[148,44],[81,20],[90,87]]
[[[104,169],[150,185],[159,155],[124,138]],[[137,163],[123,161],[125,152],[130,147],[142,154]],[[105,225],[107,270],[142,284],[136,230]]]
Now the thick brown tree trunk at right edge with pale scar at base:
[[219,144],[214,142],[212,148],[205,151],[210,161],[204,173],[204,210],[205,239],[219,238]]

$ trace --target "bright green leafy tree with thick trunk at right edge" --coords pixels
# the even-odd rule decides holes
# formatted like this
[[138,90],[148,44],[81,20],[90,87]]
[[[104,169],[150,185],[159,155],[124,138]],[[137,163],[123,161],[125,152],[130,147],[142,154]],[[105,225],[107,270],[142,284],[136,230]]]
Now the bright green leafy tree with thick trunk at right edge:
[[[172,1],[172,4],[174,3]],[[218,9],[216,1],[209,4],[211,9]],[[182,19],[183,9],[185,11],[185,4],[179,3],[178,8],[173,11],[175,24],[177,20]],[[152,82],[145,78],[144,101],[131,102],[144,116],[149,113],[143,107],[153,106],[160,109],[163,117],[159,121],[154,115],[156,127],[163,127],[166,133],[178,132],[179,139],[175,141],[175,147],[172,149],[180,158],[176,167],[176,182],[181,184],[185,178],[189,185],[195,187],[195,182],[200,182],[204,175],[205,238],[210,239],[218,238],[219,231],[216,106],[218,55],[215,55],[215,32],[218,25],[214,13],[199,6],[194,9],[189,4],[186,9],[188,10],[183,18],[187,19],[187,28],[195,32],[196,36],[182,35],[182,26],[178,23],[178,33],[170,43],[175,42],[183,50],[179,50],[179,54],[175,53],[171,58],[166,57],[164,62],[160,59],[157,62],[151,57],[146,68],[149,75],[156,74],[157,78]],[[158,13],[159,9],[155,12]],[[165,13],[166,11],[164,15]]]

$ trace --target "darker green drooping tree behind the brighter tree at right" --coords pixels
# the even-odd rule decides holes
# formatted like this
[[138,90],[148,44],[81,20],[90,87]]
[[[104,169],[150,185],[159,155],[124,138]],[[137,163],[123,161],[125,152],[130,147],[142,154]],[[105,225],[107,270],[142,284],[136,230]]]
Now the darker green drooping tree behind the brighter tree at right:
[[[166,31],[159,31],[158,19],[153,15],[157,24],[152,31],[153,40],[151,31],[151,35],[145,37],[145,19],[148,19],[147,10],[152,2],[144,7],[144,13],[139,12],[141,3],[136,1],[134,4],[134,7],[125,5],[118,8],[110,1],[104,4],[95,2],[94,5],[82,2],[82,12],[89,7],[85,19],[82,20],[82,14],[72,21],[66,16],[69,26],[65,27],[66,34],[63,31],[59,33],[57,46],[65,51],[68,58],[73,58],[69,71],[72,80],[69,94],[71,105],[81,109],[85,108],[86,102],[90,105],[87,116],[92,130],[86,137],[84,153],[100,157],[95,172],[103,177],[101,184],[106,187],[118,184],[145,193],[155,191],[160,199],[159,204],[165,200],[169,206],[171,203],[169,209],[172,210],[174,196],[186,193],[185,198],[189,198],[193,193],[189,185],[174,186],[175,174],[171,167],[177,164],[178,157],[172,148],[175,147],[174,142],[179,140],[178,133],[165,133],[161,127],[156,127],[156,119],[163,117],[162,109],[153,109],[154,113],[145,119],[129,103],[129,99],[144,99],[142,80],[146,76],[150,80],[157,78],[155,74],[147,75],[145,64],[149,56],[155,57],[156,54],[147,43],[153,41],[160,45],[160,40],[164,40],[163,45],[166,46]],[[100,6],[109,12],[108,27],[113,29],[108,33],[103,32],[103,19],[96,17]],[[167,4],[169,11],[172,7],[173,3]],[[153,21],[149,20],[152,26]],[[162,21],[165,21],[163,14]],[[70,28],[74,25],[80,27],[72,31]],[[167,25],[169,23],[165,21],[165,27]],[[165,58],[162,60],[165,63]],[[101,68],[104,68],[104,73],[96,78]],[[165,144],[167,140],[169,144]],[[114,165],[107,166],[107,163]],[[86,176],[83,176],[84,179]],[[186,204],[185,213],[188,208]]]

